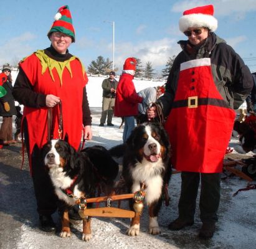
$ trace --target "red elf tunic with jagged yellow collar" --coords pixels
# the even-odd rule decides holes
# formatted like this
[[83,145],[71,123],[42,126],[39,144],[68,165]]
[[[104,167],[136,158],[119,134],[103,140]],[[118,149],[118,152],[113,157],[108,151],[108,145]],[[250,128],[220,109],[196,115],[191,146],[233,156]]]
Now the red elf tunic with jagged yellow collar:
[[[80,60],[73,56],[64,62],[50,59],[44,50],[37,50],[20,63],[33,86],[34,92],[59,96],[62,101],[63,134],[67,134],[69,143],[78,149],[82,136],[82,100],[83,88],[88,82],[85,69]],[[39,148],[47,142],[48,108],[24,107],[29,133],[29,151],[35,145]],[[59,106],[52,108],[52,138],[59,139]],[[30,155],[31,156],[31,155]],[[31,161],[31,160],[30,160]]]

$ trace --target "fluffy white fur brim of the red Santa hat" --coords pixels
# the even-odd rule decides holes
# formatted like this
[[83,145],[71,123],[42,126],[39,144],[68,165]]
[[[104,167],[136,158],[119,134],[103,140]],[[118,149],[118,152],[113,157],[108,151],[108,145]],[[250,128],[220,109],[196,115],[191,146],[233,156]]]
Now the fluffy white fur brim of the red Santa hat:
[[179,19],[179,30],[187,31],[189,27],[207,27],[210,31],[216,31],[218,21],[214,16],[206,14],[189,14]]

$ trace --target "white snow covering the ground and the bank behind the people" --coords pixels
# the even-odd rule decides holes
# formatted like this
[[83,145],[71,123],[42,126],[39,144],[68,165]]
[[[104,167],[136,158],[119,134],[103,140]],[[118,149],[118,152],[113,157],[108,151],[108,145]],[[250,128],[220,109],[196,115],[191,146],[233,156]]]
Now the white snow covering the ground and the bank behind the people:
[[[123,129],[119,129],[120,118],[113,118],[113,127],[99,127],[102,106],[102,84],[103,78],[89,77],[87,86],[88,101],[92,110],[93,138],[85,146],[100,144],[111,148],[122,143]],[[163,82],[135,81],[136,90],[146,87],[163,85]],[[1,120],[0,120],[1,122]],[[15,130],[15,129],[14,129]],[[230,146],[237,146],[236,138],[230,140]],[[236,151],[231,153],[237,155]],[[247,153],[243,156],[252,156]],[[255,183],[255,182],[254,182]],[[232,196],[240,188],[247,186],[247,182],[239,177],[230,177],[221,182],[222,195],[219,208],[219,222],[213,238],[200,240],[197,236],[201,221],[199,210],[196,210],[195,224],[184,230],[173,232],[168,230],[168,224],[178,216],[178,200],[181,179],[179,174],[171,177],[169,183],[169,194],[171,204],[163,205],[159,214],[160,235],[148,234],[148,209],[143,210],[141,217],[141,232],[137,237],[128,237],[126,230],[130,220],[125,218],[93,218],[93,237],[90,242],[82,242],[82,222],[72,222],[71,238],[60,238],[58,234],[44,233],[37,228],[37,214],[29,214],[29,220],[24,220],[20,231],[20,237],[15,238],[16,248],[93,248],[93,249],[146,249],[146,248],[211,248],[211,249],[253,249],[256,248],[256,190],[239,192]],[[32,203],[34,200],[32,200]],[[198,202],[198,200],[197,200]],[[122,202],[122,208],[126,208],[126,202]],[[198,207],[198,203],[197,203]],[[36,207],[35,207],[36,209]],[[59,222],[57,214],[54,220]],[[10,231],[11,232],[11,231]],[[6,248],[4,245],[1,248]]]

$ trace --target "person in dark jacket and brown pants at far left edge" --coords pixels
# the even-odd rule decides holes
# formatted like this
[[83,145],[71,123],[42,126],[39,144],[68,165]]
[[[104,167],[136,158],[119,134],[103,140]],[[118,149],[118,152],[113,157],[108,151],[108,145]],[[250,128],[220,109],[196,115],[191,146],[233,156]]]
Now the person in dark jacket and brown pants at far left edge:
[[16,108],[14,97],[12,96],[11,70],[9,63],[2,66],[2,73],[7,77],[7,80],[2,84],[2,87],[6,90],[6,95],[0,98],[0,116],[2,116],[0,139],[2,140],[2,145],[16,143],[12,137],[12,116],[16,115]]

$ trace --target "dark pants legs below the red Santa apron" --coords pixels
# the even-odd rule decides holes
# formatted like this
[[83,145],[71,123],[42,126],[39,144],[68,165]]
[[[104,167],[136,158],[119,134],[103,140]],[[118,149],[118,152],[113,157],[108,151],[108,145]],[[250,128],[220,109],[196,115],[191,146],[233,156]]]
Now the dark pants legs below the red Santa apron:
[[194,220],[196,198],[201,178],[199,200],[202,222],[216,222],[220,202],[220,174],[181,172],[181,197],[179,198],[179,217]]

